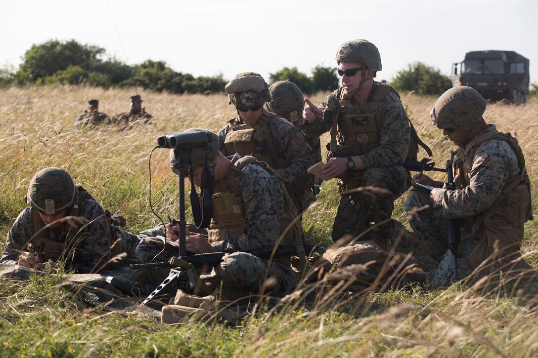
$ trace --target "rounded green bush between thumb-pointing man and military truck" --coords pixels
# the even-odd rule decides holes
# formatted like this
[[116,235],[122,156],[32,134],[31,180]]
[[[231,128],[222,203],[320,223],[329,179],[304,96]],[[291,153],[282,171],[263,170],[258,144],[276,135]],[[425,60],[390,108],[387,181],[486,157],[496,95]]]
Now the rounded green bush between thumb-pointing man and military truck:
[[398,71],[391,85],[397,90],[415,91],[419,95],[440,95],[452,87],[452,82],[438,69],[415,62]]

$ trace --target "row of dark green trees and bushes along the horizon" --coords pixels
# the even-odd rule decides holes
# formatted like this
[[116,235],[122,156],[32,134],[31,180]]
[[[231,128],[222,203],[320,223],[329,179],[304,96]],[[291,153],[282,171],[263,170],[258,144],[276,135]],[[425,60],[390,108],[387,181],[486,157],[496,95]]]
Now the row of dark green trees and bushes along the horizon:
[[[292,81],[307,95],[331,91],[339,87],[333,67],[316,66],[312,76],[296,67],[284,67],[270,74],[269,83]],[[87,84],[97,87],[137,86],[156,92],[175,94],[222,92],[228,81],[221,75],[194,77],[168,67],[165,61],[146,60],[139,65],[126,65],[116,58],[105,58],[105,49],[79,44],[75,40],[49,40],[32,45],[18,69],[0,68],[0,87],[18,84]],[[439,70],[416,62],[389,84],[402,91],[437,95],[452,87],[450,79]]]

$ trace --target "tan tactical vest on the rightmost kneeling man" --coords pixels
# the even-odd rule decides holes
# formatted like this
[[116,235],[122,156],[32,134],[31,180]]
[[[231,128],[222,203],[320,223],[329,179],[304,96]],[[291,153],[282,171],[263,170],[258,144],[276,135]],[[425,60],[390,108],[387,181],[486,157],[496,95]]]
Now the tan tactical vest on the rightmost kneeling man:
[[478,135],[473,142],[474,145],[469,148],[459,148],[456,152],[456,159],[452,163],[456,176],[454,182],[456,189],[468,187],[471,182],[471,168],[475,152],[484,142],[492,139],[501,139],[508,143],[518,158],[520,172],[511,182],[507,182],[502,189],[501,194],[486,211],[480,213],[478,220],[475,222],[475,228],[482,225],[482,220],[487,214],[493,211],[506,213],[519,230],[523,230],[523,224],[533,219],[532,202],[530,198],[530,180],[525,167],[525,157],[521,151],[518,140],[510,133],[501,133],[498,131]]

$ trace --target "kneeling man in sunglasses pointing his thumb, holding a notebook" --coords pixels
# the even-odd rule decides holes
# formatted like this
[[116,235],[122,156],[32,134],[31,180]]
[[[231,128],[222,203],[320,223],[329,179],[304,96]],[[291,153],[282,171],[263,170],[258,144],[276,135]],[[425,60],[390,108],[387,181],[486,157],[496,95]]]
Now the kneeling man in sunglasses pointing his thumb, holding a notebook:
[[[299,127],[307,137],[330,131],[330,159],[324,174],[339,179],[341,194],[332,239],[374,240],[391,246],[394,200],[410,186],[401,166],[410,151],[410,127],[400,97],[390,86],[374,82],[381,70],[376,46],[366,40],[344,42],[336,54],[343,87],[320,108],[307,106]],[[416,159],[416,157],[415,157]],[[373,223],[373,225],[372,225]]]

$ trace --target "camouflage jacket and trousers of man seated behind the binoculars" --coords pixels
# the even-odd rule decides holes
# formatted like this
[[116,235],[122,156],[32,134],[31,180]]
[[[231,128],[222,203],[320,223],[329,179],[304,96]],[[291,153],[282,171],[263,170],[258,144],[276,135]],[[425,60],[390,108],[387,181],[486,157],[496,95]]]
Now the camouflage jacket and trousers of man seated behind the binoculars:
[[[239,156],[233,157],[232,163]],[[222,181],[215,182],[216,187],[229,180],[231,169]],[[203,271],[200,278],[212,290],[218,288],[245,289],[258,292],[266,277],[274,277],[277,284],[273,288],[273,295],[286,293],[295,284],[295,275],[289,261],[270,262],[252,256],[242,251],[252,251],[273,248],[280,237],[279,207],[283,206],[282,189],[278,181],[258,164],[246,164],[239,173],[241,198],[244,202],[244,215],[246,217],[247,231],[237,237],[211,242],[214,251],[233,252],[225,255],[223,261],[211,271]],[[218,195],[216,190],[215,195]],[[218,207],[214,206],[214,215],[218,214]],[[221,223],[223,224],[223,223]],[[226,231],[225,224],[222,229]],[[163,230],[161,233],[165,236]],[[141,262],[167,261],[178,255],[178,246],[171,240],[147,238],[140,241],[136,249],[138,260]]]

